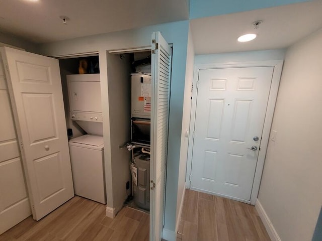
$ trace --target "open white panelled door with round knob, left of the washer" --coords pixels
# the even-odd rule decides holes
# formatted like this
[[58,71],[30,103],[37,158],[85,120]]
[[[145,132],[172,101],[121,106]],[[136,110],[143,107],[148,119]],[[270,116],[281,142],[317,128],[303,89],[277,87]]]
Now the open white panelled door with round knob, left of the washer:
[[59,64],[7,47],[2,55],[31,209],[39,220],[74,195]]

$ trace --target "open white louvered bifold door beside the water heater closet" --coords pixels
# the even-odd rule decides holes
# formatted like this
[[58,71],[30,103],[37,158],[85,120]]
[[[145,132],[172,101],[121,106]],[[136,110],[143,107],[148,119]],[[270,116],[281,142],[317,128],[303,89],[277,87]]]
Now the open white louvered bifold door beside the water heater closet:
[[168,150],[172,49],[152,33],[150,240],[162,239]]

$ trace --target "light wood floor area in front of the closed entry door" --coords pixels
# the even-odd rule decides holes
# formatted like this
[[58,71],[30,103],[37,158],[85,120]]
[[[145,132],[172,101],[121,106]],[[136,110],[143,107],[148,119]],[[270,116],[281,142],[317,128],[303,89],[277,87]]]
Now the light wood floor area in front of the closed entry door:
[[271,241],[254,206],[186,190],[177,241]]

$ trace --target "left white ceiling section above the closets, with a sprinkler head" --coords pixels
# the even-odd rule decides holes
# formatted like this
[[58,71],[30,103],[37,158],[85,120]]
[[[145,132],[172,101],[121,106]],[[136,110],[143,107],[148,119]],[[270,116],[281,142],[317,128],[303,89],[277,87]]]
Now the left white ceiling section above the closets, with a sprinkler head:
[[0,0],[0,31],[53,42],[186,20],[188,10],[186,0]]

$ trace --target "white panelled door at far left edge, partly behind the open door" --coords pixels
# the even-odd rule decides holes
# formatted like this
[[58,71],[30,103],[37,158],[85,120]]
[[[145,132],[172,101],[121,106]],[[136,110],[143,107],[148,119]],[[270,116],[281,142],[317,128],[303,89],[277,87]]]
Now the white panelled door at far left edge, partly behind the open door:
[[0,55],[0,234],[31,215]]

